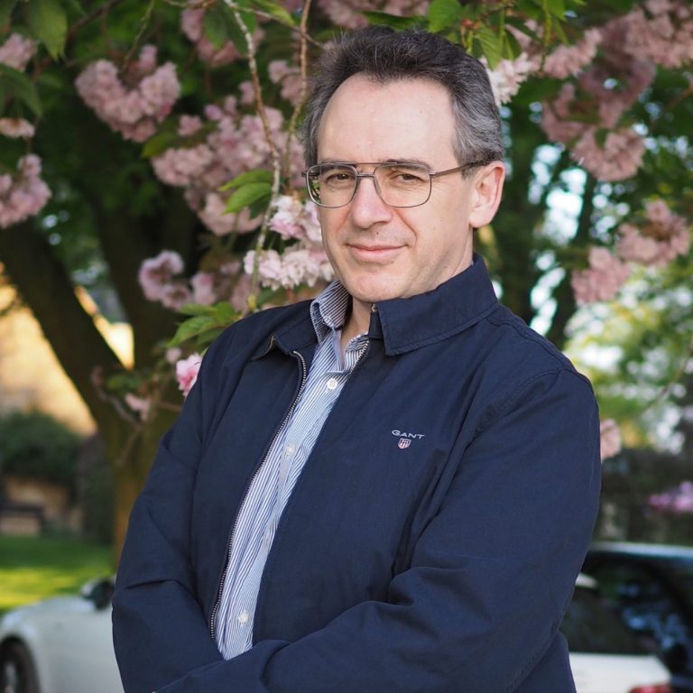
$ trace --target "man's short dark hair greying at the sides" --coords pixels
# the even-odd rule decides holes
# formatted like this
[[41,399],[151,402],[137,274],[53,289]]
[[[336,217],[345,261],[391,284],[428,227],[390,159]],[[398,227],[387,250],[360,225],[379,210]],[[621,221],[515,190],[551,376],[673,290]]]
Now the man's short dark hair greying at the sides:
[[457,125],[453,149],[460,165],[503,158],[498,108],[485,67],[460,46],[429,32],[395,32],[369,26],[328,47],[310,81],[302,126],[306,162],[318,162],[318,130],[330,97],[349,77],[363,74],[383,84],[430,79],[448,90]]

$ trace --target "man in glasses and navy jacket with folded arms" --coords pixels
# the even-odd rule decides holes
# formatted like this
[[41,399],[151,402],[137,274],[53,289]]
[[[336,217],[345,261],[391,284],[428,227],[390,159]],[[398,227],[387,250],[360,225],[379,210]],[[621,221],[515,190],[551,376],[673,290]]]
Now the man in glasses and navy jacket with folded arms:
[[125,543],[125,691],[574,691],[598,417],[472,252],[504,180],[485,70],[355,32],[304,135],[337,282],[209,349]]

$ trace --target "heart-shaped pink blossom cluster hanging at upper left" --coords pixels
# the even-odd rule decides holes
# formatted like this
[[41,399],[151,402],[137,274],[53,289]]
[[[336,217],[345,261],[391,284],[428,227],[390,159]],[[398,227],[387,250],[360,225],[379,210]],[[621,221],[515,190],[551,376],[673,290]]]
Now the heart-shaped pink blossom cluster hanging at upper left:
[[180,97],[176,66],[157,66],[156,48],[143,46],[123,74],[110,60],[88,65],[75,81],[79,96],[126,140],[144,142],[155,134]]

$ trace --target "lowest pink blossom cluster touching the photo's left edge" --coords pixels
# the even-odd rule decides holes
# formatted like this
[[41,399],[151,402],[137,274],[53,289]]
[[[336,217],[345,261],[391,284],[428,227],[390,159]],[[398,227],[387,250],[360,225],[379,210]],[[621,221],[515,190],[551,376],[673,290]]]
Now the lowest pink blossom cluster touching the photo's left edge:
[[50,197],[51,189],[41,179],[41,159],[23,156],[15,175],[0,176],[0,228],[34,217]]

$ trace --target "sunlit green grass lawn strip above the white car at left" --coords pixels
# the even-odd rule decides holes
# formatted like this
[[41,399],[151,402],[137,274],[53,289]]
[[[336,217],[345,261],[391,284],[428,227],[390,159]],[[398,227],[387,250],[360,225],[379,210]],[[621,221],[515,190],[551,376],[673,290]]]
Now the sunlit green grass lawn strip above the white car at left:
[[0,614],[47,596],[76,594],[113,572],[110,547],[58,537],[0,536]]

